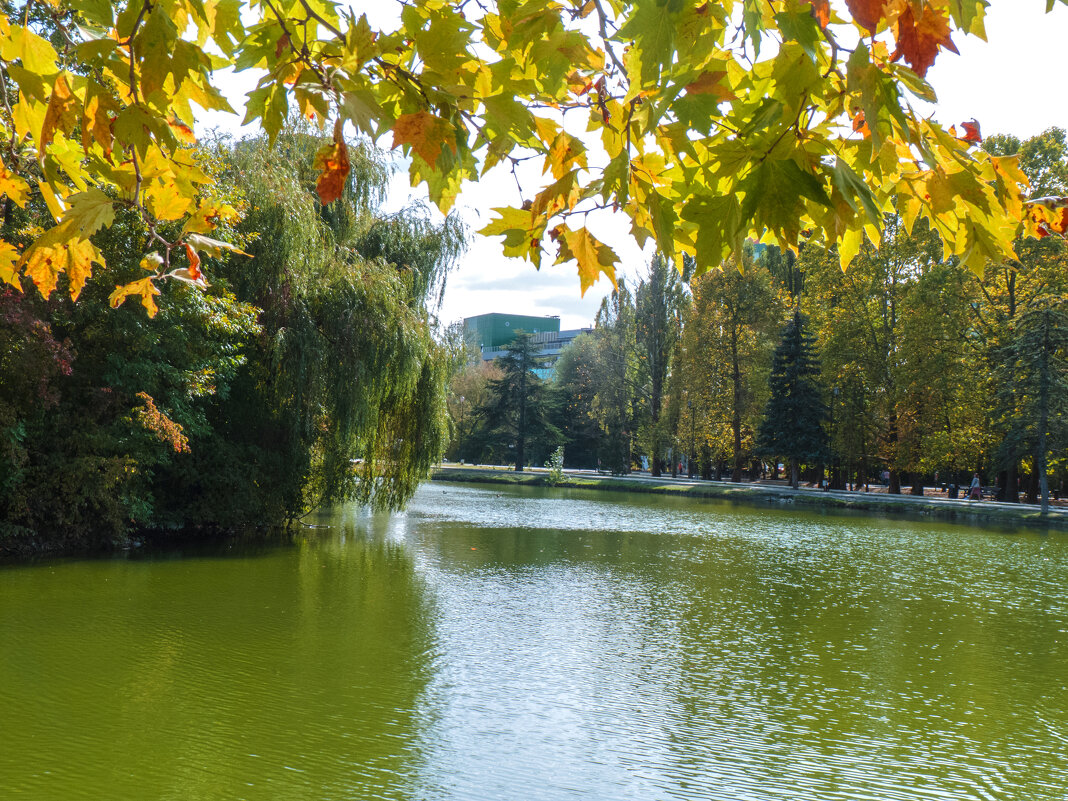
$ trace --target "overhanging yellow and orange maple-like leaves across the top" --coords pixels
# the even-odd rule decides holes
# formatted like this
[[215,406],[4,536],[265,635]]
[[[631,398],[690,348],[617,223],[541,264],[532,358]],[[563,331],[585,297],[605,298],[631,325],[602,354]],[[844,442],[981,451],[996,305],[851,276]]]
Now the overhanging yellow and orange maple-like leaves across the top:
[[483,233],[539,267],[575,263],[583,289],[618,263],[586,224],[600,209],[700,273],[747,238],[837,246],[846,266],[900,208],[981,271],[1014,257],[1018,233],[1062,227],[1011,156],[972,146],[977,128],[957,138],[913,109],[934,99],[924,76],[955,37],[985,35],[986,6],[421,0],[393,28],[329,0],[4,6],[0,194],[48,224],[0,239],[0,281],[77,298],[104,264],[100,231],[130,210],[146,274],[112,304],[136,296],[153,314],[169,282],[208,283],[200,260],[229,246],[202,246],[238,211],[191,145],[199,109],[234,111],[226,67],[256,70],[244,119],[270,138],[290,112],[333,130],[321,203],[350,179],[354,135],[407,157],[442,211],[511,171],[520,198]]

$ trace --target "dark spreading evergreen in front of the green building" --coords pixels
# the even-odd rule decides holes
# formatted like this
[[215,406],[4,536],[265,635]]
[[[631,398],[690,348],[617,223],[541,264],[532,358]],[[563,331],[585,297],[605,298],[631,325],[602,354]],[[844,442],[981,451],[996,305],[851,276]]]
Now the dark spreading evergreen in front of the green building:
[[549,420],[549,388],[534,372],[544,361],[537,356],[533,334],[518,332],[507,352],[497,360],[502,375],[489,382],[486,400],[478,409],[491,435],[514,446],[517,473],[527,464],[527,444],[531,440],[545,438],[555,445],[560,439]]

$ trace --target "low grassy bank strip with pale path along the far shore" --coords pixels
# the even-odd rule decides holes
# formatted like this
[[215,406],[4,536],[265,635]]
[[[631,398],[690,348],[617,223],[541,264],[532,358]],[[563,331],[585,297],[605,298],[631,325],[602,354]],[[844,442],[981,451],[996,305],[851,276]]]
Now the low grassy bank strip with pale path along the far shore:
[[[528,468],[516,473],[508,468],[488,466],[442,465],[434,469],[430,480],[464,484],[509,484],[550,486],[547,470]],[[641,492],[686,498],[728,501],[731,503],[782,508],[794,505],[831,513],[864,513],[901,519],[934,519],[976,527],[1026,525],[1055,531],[1068,531],[1068,509],[1054,507],[1041,515],[1031,504],[1009,504],[996,501],[946,500],[917,498],[885,492],[821,490],[765,484],[738,484],[726,481],[703,481],[680,476],[653,478],[644,475],[606,475],[596,471],[565,471],[555,485],[563,489],[595,489],[612,492]]]

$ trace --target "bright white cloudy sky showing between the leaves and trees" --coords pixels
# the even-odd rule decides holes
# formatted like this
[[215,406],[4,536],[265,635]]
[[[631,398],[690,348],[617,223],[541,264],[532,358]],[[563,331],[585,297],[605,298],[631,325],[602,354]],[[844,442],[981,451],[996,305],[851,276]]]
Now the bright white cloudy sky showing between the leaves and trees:
[[[832,5],[841,2],[832,1]],[[992,0],[987,11],[988,41],[955,35],[960,54],[942,51],[928,72],[927,80],[939,103],[924,113],[958,128],[974,117],[984,136],[1014,134],[1025,139],[1052,126],[1068,129],[1062,77],[1068,63],[1068,5],[1057,3],[1049,14],[1045,11],[1046,0]],[[230,75],[220,80],[220,87],[238,108],[254,80],[249,75]],[[239,117],[213,113],[199,121],[198,134],[211,127],[235,136],[255,132],[241,128]],[[407,170],[402,167],[392,183],[387,210],[425,197],[425,191],[409,187]],[[470,246],[449,276],[439,318],[447,324],[488,312],[555,314],[561,317],[561,328],[590,326],[601,299],[612,290],[604,278],[582,296],[574,264],[546,266],[538,271],[528,262],[505,258],[498,237],[474,233],[492,219],[490,208],[518,199],[508,173],[491,173],[480,184],[468,185],[460,194],[456,208],[471,230]],[[618,253],[623,265],[617,273],[637,283],[651,257],[651,245],[642,252],[621,217],[609,213],[597,219],[591,216],[590,227]]]

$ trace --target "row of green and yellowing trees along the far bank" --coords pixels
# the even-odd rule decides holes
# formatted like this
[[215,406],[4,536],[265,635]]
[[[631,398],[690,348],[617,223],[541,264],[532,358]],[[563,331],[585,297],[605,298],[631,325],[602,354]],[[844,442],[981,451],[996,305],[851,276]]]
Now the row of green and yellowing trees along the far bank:
[[[984,146],[1020,154],[1033,197],[1068,194],[1063,130]],[[835,252],[758,246],[687,284],[657,255],[550,381],[524,337],[457,374],[447,454],[540,464],[563,444],[572,467],[736,481],[792,462],[916,493],[978,472],[1037,499],[1068,477],[1068,257],[1055,236],[1016,250],[976,276],[902,213],[845,272]]]

